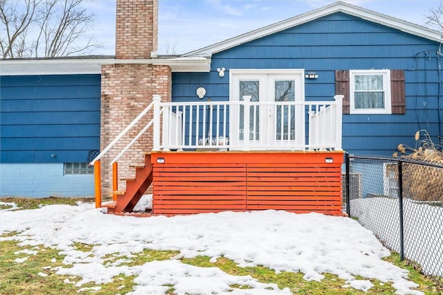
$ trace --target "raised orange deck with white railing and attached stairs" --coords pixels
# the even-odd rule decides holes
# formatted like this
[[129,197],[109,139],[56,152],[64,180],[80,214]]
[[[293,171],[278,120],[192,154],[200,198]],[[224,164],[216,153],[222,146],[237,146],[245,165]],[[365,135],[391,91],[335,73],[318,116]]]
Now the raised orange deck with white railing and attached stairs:
[[[250,102],[250,97],[244,96],[241,102],[190,104],[161,102],[161,97],[154,95],[153,102],[90,162],[94,166],[96,208],[106,207],[107,213],[115,215],[141,214],[141,217],[269,209],[340,215],[343,96],[334,98],[335,101],[264,105]],[[246,140],[240,142],[239,132],[231,132],[230,140],[226,141],[228,109],[239,110],[240,105],[244,105],[244,118],[254,120],[256,116],[251,116],[250,107],[260,109],[268,106],[274,109],[275,114],[278,107],[283,109],[285,106],[305,111],[308,138],[305,138],[307,129],[305,121],[302,121],[298,127],[291,123],[294,130],[300,131],[300,141],[288,138],[265,143],[248,140],[246,136]],[[206,109],[211,110],[208,115]],[[193,121],[195,114],[203,116],[197,116]],[[121,149],[125,144],[123,136],[130,129],[139,127],[137,124],[141,118],[151,115],[152,120]],[[289,117],[286,117],[287,120]],[[203,118],[202,122],[199,118]],[[284,126],[285,116],[281,118],[280,126]],[[144,166],[133,167],[135,178],[125,179],[126,190],[120,192],[117,189],[118,160],[150,127],[152,150],[144,155]],[[284,128],[280,129],[280,134],[284,135]],[[183,134],[184,130],[188,130],[189,134]],[[208,137],[213,139],[209,145],[205,144],[202,134],[211,134]],[[244,123],[243,134],[251,134],[247,123]],[[231,141],[233,136],[235,140]],[[114,147],[120,140],[120,144]],[[143,145],[142,148],[147,147]],[[102,204],[100,159],[111,149],[111,153],[120,152],[110,163],[113,202]],[[143,214],[133,212],[150,185],[152,211]]]

